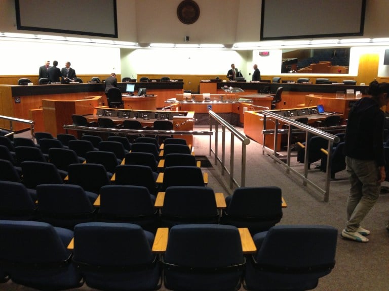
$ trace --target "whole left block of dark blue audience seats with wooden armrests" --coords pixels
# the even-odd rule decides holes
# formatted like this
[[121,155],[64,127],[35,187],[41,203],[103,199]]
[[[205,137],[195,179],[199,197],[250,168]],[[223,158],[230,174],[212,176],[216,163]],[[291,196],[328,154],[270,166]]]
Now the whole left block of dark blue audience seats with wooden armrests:
[[[38,136],[45,137],[40,138],[41,141],[50,139],[44,134]],[[261,262],[262,259],[257,258],[267,254],[262,249],[268,245],[261,246],[255,239],[270,236],[279,226],[290,231],[288,236],[294,236],[293,230],[297,226],[277,226],[282,221],[283,208],[287,206],[281,188],[240,187],[225,197],[213,190],[207,173],[196,163],[192,145],[184,140],[166,138],[166,144],[160,145],[156,138],[139,137],[139,141],[149,142],[136,140],[130,143],[130,151],[119,158],[113,150],[102,147],[102,143],[108,142],[106,140],[96,143],[96,148],[88,138],[61,138],[68,140],[68,149],[53,147],[47,156],[41,152],[45,162],[23,159],[20,174],[16,169],[17,153],[18,148],[23,147],[10,144],[15,150],[15,166],[11,161],[0,160],[3,173],[3,161],[16,173],[16,180],[0,176],[3,189],[0,192],[0,219],[3,219],[0,220],[0,275],[4,274],[4,281],[10,279],[33,288],[57,290],[83,284],[101,290],[155,290],[162,286],[177,290],[210,290],[211,285],[217,286],[212,290],[238,290],[241,287],[261,290],[256,286],[257,275],[251,273],[251,277],[246,278],[243,272],[248,264]],[[57,140],[57,137],[51,139]],[[77,154],[72,150],[72,143],[76,141],[87,142],[90,150]],[[124,150],[120,141],[109,142],[120,144]],[[149,159],[150,166],[141,164],[142,144],[152,144],[156,149],[157,156],[146,153],[152,158]],[[2,147],[9,151],[6,146]],[[136,147],[138,151],[133,152]],[[41,151],[38,144],[30,148]],[[58,162],[66,176],[62,176],[59,166],[57,169],[54,164],[56,159],[60,160],[53,158],[57,151],[72,154],[73,160],[68,158],[68,164]],[[141,157],[133,157],[133,154]],[[170,162],[169,156],[174,155],[191,157],[190,165]],[[167,165],[157,167],[161,161]],[[27,166],[32,169],[30,177]],[[45,168],[48,170],[43,173]],[[150,173],[148,180],[145,179],[146,171]],[[13,197],[16,191],[18,195]],[[293,284],[301,290],[304,290],[302,286],[317,285],[319,278],[331,272],[334,266],[336,229],[300,227],[308,236],[314,233],[311,229],[323,228],[322,232],[335,233],[335,240],[325,236],[330,234],[323,234],[314,241],[318,235],[313,234],[309,238],[312,245],[325,245],[325,255],[318,258],[317,252],[305,248],[299,250],[298,262],[292,262],[290,258],[290,264],[297,266],[290,273],[282,266],[281,271],[276,268],[271,273],[260,274],[268,282],[274,277],[280,278],[279,286],[282,287],[279,290],[287,290],[285,286]],[[19,229],[22,231],[17,235],[11,234]],[[53,246],[42,250],[42,246],[36,247],[34,240],[28,248],[25,244],[14,243],[16,239],[29,241],[31,233],[36,233],[36,241],[47,241],[48,246]],[[58,240],[68,249],[56,246],[54,242]],[[272,244],[290,252],[283,245],[286,240],[276,239]],[[30,247],[35,248],[35,254]],[[11,248],[10,254],[2,251]],[[53,249],[57,249],[57,254],[65,252],[67,257],[57,258]],[[300,258],[307,256],[309,260],[301,264]],[[19,260],[17,264],[13,262],[14,257]],[[49,262],[47,258],[50,257],[53,260]],[[39,261],[34,265],[31,276],[24,267],[33,265],[37,258],[42,258],[42,263]],[[55,280],[48,279],[52,276],[48,266],[56,272]],[[59,271],[57,266],[61,266]],[[315,272],[307,271],[312,268]],[[254,267],[252,272],[256,270]]]

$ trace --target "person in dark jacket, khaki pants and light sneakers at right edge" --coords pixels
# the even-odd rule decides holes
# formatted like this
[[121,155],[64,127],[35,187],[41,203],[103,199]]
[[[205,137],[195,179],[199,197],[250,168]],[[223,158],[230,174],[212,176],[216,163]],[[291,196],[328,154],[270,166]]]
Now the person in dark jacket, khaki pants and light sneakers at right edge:
[[347,222],[341,236],[367,243],[369,230],[361,226],[378,199],[385,180],[381,107],[389,103],[389,83],[373,81],[370,97],[358,100],[348,114],[345,147],[346,170],[351,183],[347,198]]

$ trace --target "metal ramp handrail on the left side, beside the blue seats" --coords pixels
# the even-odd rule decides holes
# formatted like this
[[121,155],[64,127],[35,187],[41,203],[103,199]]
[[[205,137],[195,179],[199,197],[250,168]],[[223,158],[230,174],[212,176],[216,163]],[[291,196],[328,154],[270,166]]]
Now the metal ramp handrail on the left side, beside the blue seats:
[[[215,150],[212,150],[212,139],[211,136],[209,137],[209,156],[211,156],[211,153],[213,152],[215,154],[215,165],[217,165],[217,162],[219,161],[221,163],[221,174],[224,175],[224,171],[227,171],[229,174],[229,187],[232,189],[234,187],[234,184],[238,187],[245,186],[246,181],[246,146],[250,143],[250,139],[247,138],[244,134],[240,133],[238,130],[235,129],[234,126],[230,125],[228,122],[226,122],[224,119],[222,119],[219,115],[214,113],[212,110],[208,111],[209,113],[209,130],[212,131],[212,119],[215,120]],[[218,156],[218,125],[221,124],[222,126],[222,150],[221,150],[221,158]],[[231,133],[231,140],[230,140],[230,170],[225,166],[225,129],[228,129]],[[241,162],[242,162],[242,170],[241,170],[241,185],[237,182],[237,180],[234,178],[234,146],[235,146],[235,138],[238,138],[242,142],[242,156],[241,156]]]

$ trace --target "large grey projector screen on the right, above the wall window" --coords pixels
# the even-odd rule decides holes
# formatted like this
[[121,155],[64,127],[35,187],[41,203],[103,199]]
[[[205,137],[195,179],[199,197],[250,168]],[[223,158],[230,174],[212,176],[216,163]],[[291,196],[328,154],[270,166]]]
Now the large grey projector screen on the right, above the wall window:
[[262,0],[261,40],[363,35],[366,0]]

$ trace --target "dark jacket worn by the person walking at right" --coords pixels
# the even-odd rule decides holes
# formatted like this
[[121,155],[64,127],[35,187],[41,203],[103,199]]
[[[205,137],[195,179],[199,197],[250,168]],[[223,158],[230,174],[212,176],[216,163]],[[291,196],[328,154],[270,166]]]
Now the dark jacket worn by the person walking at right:
[[372,98],[358,100],[348,113],[344,152],[358,160],[374,160],[384,166],[383,126],[385,116]]

